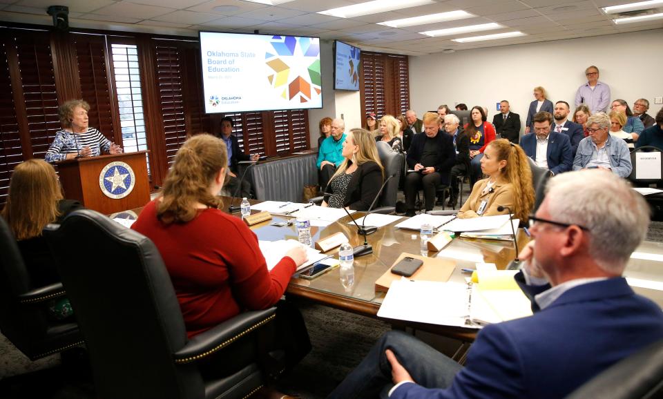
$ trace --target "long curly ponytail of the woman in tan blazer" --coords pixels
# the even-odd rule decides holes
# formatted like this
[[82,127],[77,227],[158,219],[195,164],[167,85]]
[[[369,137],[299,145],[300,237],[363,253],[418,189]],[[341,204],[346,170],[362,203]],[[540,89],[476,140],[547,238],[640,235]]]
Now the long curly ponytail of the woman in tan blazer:
[[515,217],[526,222],[534,208],[534,187],[532,186],[532,169],[527,155],[520,146],[509,142],[508,139],[493,140],[488,144],[497,152],[497,161],[506,160],[506,167],[502,169],[503,177],[513,185],[512,209]]

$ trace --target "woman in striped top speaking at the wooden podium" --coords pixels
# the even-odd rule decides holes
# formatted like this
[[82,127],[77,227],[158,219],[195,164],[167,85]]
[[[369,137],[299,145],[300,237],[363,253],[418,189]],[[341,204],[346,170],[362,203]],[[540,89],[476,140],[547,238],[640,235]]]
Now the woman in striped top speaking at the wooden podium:
[[99,130],[88,126],[90,104],[83,100],[70,100],[59,106],[57,113],[63,128],[46,151],[46,162],[64,161],[79,157],[97,157],[106,152],[122,153],[122,147],[106,139]]

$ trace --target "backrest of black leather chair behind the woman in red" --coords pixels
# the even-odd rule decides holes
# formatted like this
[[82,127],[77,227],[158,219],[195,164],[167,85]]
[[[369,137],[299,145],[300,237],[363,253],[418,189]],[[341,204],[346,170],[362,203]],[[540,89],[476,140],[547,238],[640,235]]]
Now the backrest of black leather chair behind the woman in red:
[[186,330],[153,242],[88,209],[44,235],[86,340],[98,396],[203,398],[195,364],[173,362]]

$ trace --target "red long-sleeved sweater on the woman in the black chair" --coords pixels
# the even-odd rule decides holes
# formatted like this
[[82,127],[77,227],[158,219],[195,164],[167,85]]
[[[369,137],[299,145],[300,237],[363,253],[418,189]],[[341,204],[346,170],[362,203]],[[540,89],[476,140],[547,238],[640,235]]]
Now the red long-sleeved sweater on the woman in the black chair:
[[189,338],[242,311],[278,302],[296,269],[290,257],[268,271],[258,237],[239,217],[208,208],[191,222],[166,226],[157,219],[155,201],[131,228],[159,249]]

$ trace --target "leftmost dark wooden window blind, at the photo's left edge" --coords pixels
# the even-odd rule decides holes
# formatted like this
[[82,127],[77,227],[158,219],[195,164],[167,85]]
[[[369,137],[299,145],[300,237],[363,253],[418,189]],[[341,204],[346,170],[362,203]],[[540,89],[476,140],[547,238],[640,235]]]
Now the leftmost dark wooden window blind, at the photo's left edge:
[[0,85],[5,88],[0,90],[0,204],[6,202],[12,171],[23,162],[6,46],[0,43]]

